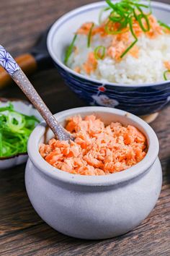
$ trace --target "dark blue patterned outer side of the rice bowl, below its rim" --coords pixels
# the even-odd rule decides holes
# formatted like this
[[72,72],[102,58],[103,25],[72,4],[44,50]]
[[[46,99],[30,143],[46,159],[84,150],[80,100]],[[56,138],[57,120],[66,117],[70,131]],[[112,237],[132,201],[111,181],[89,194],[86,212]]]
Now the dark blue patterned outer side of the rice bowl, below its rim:
[[170,82],[143,87],[107,85],[73,75],[58,64],[55,66],[66,85],[91,106],[115,107],[141,116],[161,111],[170,103]]

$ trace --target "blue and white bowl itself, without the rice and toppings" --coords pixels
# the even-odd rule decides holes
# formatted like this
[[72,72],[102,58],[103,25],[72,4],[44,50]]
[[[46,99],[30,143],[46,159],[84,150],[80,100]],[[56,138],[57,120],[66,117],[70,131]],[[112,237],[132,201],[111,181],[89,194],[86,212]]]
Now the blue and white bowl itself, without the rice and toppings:
[[[158,20],[170,22],[170,5],[152,1],[153,14]],[[84,22],[97,22],[105,1],[88,4],[68,12],[57,20],[48,34],[48,51],[66,85],[90,105],[120,108],[136,115],[161,111],[170,102],[170,81],[145,85],[117,85],[101,82],[78,74],[63,64],[66,48],[73,33]],[[149,68],[149,67],[148,67]]]

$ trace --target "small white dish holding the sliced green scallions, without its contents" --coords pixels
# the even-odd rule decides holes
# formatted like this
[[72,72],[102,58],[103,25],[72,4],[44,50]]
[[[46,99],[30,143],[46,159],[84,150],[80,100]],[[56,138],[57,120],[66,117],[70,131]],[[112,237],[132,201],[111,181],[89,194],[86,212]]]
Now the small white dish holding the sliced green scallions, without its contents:
[[[42,121],[42,116],[28,101],[21,101],[19,99],[0,98],[0,107],[8,106],[9,101],[14,105],[14,110],[28,116],[35,116],[38,120]],[[5,158],[0,158],[0,169],[11,168],[27,161],[27,152],[18,155],[12,155]]]

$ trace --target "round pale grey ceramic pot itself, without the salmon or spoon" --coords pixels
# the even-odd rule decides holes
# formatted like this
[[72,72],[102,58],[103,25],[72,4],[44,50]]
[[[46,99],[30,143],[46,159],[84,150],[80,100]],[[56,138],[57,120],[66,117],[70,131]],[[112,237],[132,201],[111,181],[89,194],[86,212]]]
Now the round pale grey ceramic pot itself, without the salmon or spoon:
[[96,114],[105,124],[135,125],[147,137],[146,157],[132,168],[107,176],[68,174],[50,166],[38,152],[40,143],[53,137],[42,122],[28,142],[27,194],[40,217],[63,234],[81,239],[125,234],[148,216],[161,191],[156,134],[143,120],[115,108],[73,108],[55,117],[64,125],[66,118],[75,114]]

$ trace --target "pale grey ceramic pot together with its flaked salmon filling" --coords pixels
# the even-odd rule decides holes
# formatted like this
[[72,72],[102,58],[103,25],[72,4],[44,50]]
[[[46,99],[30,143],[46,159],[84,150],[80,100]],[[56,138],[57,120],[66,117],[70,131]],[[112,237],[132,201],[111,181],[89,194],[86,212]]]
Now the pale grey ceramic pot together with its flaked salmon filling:
[[81,239],[134,229],[161,192],[153,129],[115,108],[73,108],[55,117],[76,139],[55,140],[45,121],[32,132],[25,184],[36,212],[53,229]]

